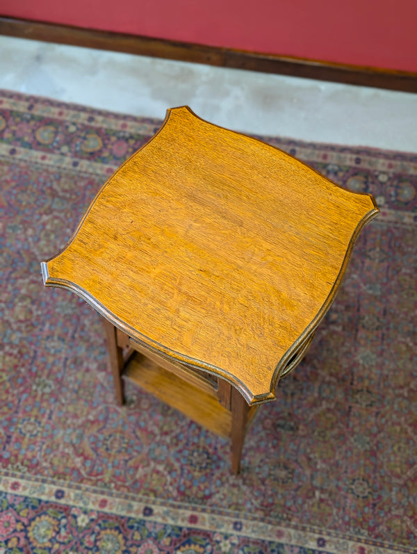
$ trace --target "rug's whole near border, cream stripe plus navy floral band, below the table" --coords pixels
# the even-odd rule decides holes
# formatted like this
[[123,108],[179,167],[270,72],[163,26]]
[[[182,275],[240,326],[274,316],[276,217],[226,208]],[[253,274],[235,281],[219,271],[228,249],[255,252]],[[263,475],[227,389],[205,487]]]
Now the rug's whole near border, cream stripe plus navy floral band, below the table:
[[[381,543],[238,512],[0,478],[0,553],[389,554]],[[2,550],[3,549],[3,550]],[[395,552],[411,553],[409,548]]]

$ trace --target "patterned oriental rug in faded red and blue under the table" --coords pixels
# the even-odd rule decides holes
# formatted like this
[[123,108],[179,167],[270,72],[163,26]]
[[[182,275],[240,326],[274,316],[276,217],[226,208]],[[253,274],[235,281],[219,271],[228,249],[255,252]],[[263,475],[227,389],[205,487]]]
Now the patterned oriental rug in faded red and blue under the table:
[[236,477],[227,441],[147,393],[117,407],[100,317],[42,284],[160,124],[0,92],[0,553],[415,552],[417,156],[260,137],[382,213]]

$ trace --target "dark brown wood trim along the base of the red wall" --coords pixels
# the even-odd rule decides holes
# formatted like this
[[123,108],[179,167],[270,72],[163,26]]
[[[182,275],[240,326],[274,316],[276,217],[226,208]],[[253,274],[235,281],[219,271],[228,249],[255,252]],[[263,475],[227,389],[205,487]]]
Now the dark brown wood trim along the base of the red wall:
[[381,70],[375,67],[343,65],[323,61],[258,54],[202,44],[174,42],[110,31],[97,31],[0,16],[0,35],[59,44],[153,56],[170,60],[205,63],[250,71],[305,77],[404,92],[417,92],[417,73]]

